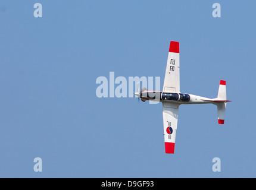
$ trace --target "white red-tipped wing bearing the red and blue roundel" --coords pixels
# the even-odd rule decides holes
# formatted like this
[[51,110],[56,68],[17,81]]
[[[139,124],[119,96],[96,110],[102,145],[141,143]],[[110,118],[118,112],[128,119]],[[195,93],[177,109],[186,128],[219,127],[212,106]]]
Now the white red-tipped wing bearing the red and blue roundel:
[[174,154],[179,105],[163,102],[164,144],[167,154]]

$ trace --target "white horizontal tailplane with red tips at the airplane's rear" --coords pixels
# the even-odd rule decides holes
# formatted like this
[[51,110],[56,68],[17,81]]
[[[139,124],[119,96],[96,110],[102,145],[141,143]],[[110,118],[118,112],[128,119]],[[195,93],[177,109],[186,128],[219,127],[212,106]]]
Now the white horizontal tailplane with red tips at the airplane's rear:
[[[227,100],[226,93],[226,81],[221,80],[220,86],[218,87],[218,97],[217,100]],[[224,124],[225,112],[226,112],[226,102],[216,103],[218,112],[218,124]]]

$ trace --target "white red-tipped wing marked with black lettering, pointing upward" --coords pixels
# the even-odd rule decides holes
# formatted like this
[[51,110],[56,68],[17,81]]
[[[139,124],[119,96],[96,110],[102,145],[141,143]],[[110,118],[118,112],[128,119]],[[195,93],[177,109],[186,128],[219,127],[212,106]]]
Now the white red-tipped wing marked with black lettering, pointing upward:
[[164,77],[164,92],[180,92],[180,45],[179,42],[170,42],[166,75]]

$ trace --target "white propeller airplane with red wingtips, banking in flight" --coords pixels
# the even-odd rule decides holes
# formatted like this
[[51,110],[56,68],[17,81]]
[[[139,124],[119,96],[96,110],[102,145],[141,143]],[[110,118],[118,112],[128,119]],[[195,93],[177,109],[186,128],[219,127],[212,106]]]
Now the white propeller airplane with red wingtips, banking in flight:
[[224,124],[226,104],[226,81],[221,80],[215,99],[180,93],[180,50],[179,42],[170,42],[163,91],[148,91],[146,88],[135,93],[143,102],[160,101],[163,104],[164,143],[167,154],[174,154],[175,138],[180,105],[213,103],[217,106],[218,124]]

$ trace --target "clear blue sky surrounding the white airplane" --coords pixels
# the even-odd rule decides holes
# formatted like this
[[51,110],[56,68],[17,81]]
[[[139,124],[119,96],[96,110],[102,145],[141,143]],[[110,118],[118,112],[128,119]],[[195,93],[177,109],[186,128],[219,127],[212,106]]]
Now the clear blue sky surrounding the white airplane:
[[[1,0],[0,177],[255,178],[255,6]],[[226,80],[233,102],[224,125],[214,105],[180,106],[175,154],[166,154],[161,103],[99,99],[95,82],[113,71],[161,77],[162,87],[171,40],[180,42],[180,90],[214,98]]]

